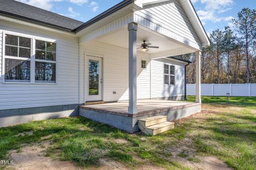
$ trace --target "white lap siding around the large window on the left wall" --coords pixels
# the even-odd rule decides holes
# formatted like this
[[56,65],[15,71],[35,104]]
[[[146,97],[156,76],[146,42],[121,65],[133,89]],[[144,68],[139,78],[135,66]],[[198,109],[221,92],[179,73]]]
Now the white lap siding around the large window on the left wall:
[[[77,38],[7,22],[1,23],[0,30],[53,39],[57,43],[57,84],[0,83],[0,110],[79,104],[79,40]],[[1,48],[0,52],[2,52]],[[1,64],[0,67],[2,68]]]

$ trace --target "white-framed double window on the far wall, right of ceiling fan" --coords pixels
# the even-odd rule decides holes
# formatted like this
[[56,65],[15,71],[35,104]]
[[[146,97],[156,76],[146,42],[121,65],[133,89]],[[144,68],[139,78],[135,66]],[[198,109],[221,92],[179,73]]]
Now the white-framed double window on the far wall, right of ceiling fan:
[[164,85],[175,85],[175,66],[164,64]]

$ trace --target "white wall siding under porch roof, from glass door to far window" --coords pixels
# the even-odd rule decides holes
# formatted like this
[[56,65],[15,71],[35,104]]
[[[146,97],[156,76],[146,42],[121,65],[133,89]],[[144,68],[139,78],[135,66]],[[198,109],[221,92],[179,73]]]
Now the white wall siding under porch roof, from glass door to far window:
[[[90,42],[84,46],[85,54],[104,56],[104,101],[128,100],[128,50],[102,42]],[[147,61],[147,68],[141,68],[141,59]],[[184,95],[184,65],[170,59],[158,59],[152,62],[152,97],[170,97]],[[163,85],[164,62],[175,65],[176,86]],[[88,69],[88,68],[85,68]],[[137,97],[150,99],[150,56],[147,53],[137,54]],[[85,75],[88,76],[88,75]],[[84,76],[84,77],[85,77]],[[85,82],[87,90],[88,82]],[[113,94],[113,91],[117,92]],[[86,100],[86,96],[85,96]]]

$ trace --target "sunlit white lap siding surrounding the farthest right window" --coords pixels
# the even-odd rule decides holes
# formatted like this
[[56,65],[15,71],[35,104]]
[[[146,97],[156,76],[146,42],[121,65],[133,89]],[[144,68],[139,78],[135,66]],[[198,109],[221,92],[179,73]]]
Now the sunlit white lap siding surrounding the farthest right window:
[[[164,63],[175,65],[175,86],[164,86]],[[152,61],[152,98],[184,95],[184,64],[169,59]]]

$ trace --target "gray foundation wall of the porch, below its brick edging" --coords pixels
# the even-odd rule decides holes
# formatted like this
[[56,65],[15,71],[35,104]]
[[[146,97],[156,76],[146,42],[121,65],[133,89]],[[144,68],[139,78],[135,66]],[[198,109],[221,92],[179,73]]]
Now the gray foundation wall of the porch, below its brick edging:
[[104,124],[108,124],[115,128],[125,130],[129,133],[134,133],[136,131],[139,131],[138,120],[140,120],[141,118],[152,117],[157,115],[165,115],[167,116],[168,121],[172,121],[172,120],[177,120],[179,118],[187,117],[193,113],[199,113],[199,112],[201,112],[201,105],[132,118],[132,117],[119,116],[119,115],[110,114],[110,113],[90,111],[82,108],[79,109],[80,116],[83,116]]

